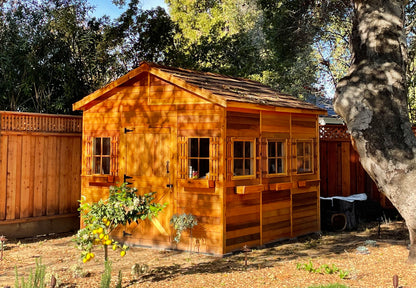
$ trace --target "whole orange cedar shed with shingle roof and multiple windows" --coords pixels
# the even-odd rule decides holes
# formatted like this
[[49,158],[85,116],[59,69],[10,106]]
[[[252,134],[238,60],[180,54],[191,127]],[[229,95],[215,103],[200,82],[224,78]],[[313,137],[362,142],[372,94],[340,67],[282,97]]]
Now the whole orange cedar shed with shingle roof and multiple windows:
[[182,213],[198,225],[177,248],[212,254],[320,230],[325,110],[255,81],[147,62],[73,108],[83,110],[87,201],[129,182],[167,203],[117,229],[126,243],[174,248],[169,220]]

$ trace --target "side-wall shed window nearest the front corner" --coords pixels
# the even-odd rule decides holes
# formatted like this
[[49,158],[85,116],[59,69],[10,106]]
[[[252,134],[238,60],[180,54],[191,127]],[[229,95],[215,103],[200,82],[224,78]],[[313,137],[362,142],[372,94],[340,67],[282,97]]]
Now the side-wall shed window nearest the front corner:
[[254,140],[233,141],[233,175],[254,176]]

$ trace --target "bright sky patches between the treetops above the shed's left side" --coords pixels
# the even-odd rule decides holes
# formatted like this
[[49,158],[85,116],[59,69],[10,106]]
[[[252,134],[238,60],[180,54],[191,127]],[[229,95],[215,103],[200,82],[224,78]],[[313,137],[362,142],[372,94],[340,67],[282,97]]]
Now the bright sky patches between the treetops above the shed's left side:
[[[95,7],[93,15],[96,17],[108,15],[111,18],[117,18],[122,12],[124,12],[123,9],[118,9],[111,0],[89,0],[88,2],[91,6]],[[144,10],[161,6],[167,11],[167,5],[164,0],[141,0],[140,3],[142,4],[142,9]]]

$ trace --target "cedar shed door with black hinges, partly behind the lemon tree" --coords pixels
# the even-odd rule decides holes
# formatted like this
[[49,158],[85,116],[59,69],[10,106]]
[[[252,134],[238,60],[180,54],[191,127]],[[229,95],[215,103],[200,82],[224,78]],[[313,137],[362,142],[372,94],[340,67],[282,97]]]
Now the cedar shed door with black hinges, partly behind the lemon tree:
[[[138,193],[157,192],[155,201],[167,203],[168,206],[157,219],[152,220],[152,227],[142,231],[150,234],[168,236],[168,211],[171,209],[172,195],[170,166],[172,163],[172,137],[170,128],[127,127],[125,133],[125,182],[136,187]],[[168,164],[169,161],[169,164]],[[169,169],[169,173],[168,173]],[[151,231],[149,231],[149,229]]]

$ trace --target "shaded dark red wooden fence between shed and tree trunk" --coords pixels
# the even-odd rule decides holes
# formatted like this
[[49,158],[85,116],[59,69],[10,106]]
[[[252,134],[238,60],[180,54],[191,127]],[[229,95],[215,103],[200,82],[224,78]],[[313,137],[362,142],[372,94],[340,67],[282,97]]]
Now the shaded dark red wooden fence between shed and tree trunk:
[[390,201],[379,192],[364,171],[359,156],[351,145],[345,125],[320,126],[321,196],[350,196],[366,193],[370,200],[384,208],[392,208]]

